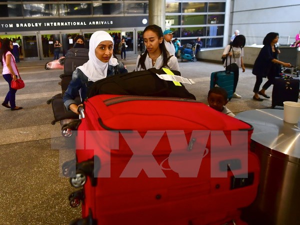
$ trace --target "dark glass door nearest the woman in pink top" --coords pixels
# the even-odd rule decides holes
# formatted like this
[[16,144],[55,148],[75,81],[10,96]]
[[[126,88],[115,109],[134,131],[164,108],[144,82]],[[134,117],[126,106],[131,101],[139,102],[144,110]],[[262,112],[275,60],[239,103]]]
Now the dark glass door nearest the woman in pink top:
[[37,35],[22,36],[22,50],[24,60],[39,60]]

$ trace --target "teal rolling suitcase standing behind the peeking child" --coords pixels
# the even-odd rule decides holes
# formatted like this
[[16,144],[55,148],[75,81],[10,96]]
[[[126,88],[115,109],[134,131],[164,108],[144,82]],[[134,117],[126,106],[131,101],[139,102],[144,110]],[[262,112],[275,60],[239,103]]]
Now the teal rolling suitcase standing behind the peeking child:
[[210,75],[210,88],[215,85],[224,88],[230,100],[233,94],[233,77],[234,73],[229,70],[212,72]]

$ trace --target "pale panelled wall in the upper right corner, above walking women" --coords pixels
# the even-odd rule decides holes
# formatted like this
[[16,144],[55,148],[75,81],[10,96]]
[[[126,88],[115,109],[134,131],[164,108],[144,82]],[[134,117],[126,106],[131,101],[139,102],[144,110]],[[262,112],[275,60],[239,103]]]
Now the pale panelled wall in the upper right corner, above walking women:
[[[268,32],[294,42],[300,30],[300,0],[231,0],[230,16],[229,36],[238,29],[246,45],[262,44]],[[286,44],[287,38],[279,38],[279,43]]]

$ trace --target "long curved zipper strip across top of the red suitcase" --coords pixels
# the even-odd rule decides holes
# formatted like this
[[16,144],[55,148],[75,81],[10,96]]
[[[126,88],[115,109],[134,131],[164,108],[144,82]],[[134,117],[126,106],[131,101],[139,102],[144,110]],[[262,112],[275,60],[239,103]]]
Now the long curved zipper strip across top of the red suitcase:
[[135,100],[171,100],[171,101],[186,101],[186,102],[198,102],[200,101],[187,99],[187,98],[177,98],[177,97],[152,97],[152,96],[136,96],[136,95],[126,95],[126,96],[117,96],[103,100],[106,106],[117,104],[126,101],[135,101]]

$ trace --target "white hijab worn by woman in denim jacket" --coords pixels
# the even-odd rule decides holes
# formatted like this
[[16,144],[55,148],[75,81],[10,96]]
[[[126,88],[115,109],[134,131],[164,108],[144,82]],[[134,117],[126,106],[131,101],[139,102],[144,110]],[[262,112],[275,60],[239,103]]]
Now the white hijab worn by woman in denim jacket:
[[113,58],[112,55],[108,62],[102,62],[96,57],[95,49],[104,40],[110,40],[113,44],[112,37],[106,31],[99,30],[94,32],[89,39],[89,59],[83,65],[77,67],[88,77],[88,80],[93,82],[106,77],[108,64],[113,66],[118,64],[117,59]]

